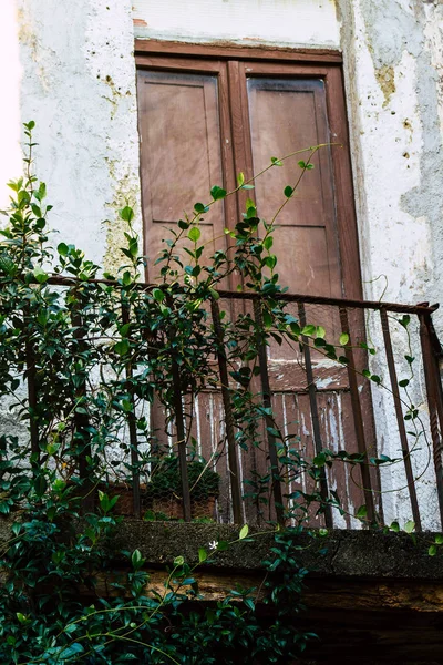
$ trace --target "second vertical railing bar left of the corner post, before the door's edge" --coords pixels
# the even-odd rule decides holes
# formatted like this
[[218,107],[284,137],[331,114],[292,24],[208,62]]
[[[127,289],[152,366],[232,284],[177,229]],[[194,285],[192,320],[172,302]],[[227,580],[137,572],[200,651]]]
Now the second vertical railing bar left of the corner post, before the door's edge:
[[351,393],[351,405],[352,405],[352,416],[356,429],[356,438],[357,446],[360,454],[363,454],[365,461],[360,464],[361,480],[363,484],[364,492],[364,502],[368,511],[368,520],[369,522],[374,522],[375,520],[375,509],[374,509],[374,500],[372,494],[372,483],[371,475],[368,467],[368,449],[367,441],[364,437],[364,424],[363,424],[363,416],[361,412],[361,403],[360,403],[360,395],[359,395],[359,386],[357,382],[357,374],[356,374],[356,362],[352,351],[352,336],[349,328],[349,318],[348,318],[348,309],[346,307],[339,307],[340,311],[340,323],[342,332],[348,335],[348,345],[344,347],[344,355],[348,358],[347,369],[348,369],[348,380],[349,380],[349,389]]

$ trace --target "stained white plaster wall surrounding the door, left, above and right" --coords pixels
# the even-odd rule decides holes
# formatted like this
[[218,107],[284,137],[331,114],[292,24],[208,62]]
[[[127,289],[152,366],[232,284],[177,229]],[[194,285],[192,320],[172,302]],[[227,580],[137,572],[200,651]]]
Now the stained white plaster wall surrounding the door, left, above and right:
[[[116,211],[130,203],[141,224],[134,37],[342,50],[364,295],[443,300],[441,0],[3,0],[0,27],[0,208],[34,120],[53,228],[111,270]],[[374,400],[381,452],[395,452],[392,405]],[[435,525],[430,470],[421,493]],[[388,519],[404,507],[391,498]]]

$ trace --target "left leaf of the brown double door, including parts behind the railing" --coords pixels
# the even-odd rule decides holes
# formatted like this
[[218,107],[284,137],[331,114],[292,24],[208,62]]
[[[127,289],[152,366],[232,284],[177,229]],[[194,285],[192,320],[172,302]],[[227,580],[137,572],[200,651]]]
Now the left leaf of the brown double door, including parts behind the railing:
[[[156,260],[177,221],[192,218],[196,202],[208,203],[213,185],[227,190],[235,186],[226,64],[156,59],[150,69],[138,70],[137,95],[146,279],[156,282],[163,265]],[[206,256],[226,248],[224,228],[235,224],[235,208],[230,197],[204,216],[199,228]],[[193,248],[190,241],[188,246]],[[179,247],[176,254],[186,265],[186,239]],[[231,284],[225,282],[222,287],[230,288]],[[195,441],[195,452],[205,461],[218,460],[222,491],[217,514],[227,521],[229,474],[220,395],[206,391],[196,398],[185,396],[184,401],[189,449]],[[165,413],[157,401],[151,424],[162,449],[172,448],[174,428],[165,428]]]

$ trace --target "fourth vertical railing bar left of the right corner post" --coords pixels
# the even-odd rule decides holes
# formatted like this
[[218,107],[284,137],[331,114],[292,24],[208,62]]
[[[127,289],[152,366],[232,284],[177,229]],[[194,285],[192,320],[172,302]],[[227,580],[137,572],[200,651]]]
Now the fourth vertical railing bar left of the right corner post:
[[[254,300],[254,318],[256,324],[262,330],[262,314],[261,314],[261,303],[259,300]],[[261,391],[262,391],[262,405],[266,410],[272,408],[271,401],[271,391],[270,391],[270,382],[269,382],[269,372],[268,372],[268,358],[266,354],[266,345],[260,342],[258,345],[258,362],[260,367],[260,379],[261,379]],[[277,446],[276,438],[269,431],[274,429],[275,424],[272,419],[268,413],[265,412],[265,422],[266,422],[266,432],[268,439],[268,449],[269,449],[269,460],[271,466],[271,477],[272,477],[272,494],[274,501],[276,504],[276,513],[277,521],[279,524],[285,523],[284,515],[284,500],[281,494],[281,483],[279,479],[279,467],[278,467],[278,456],[277,456]]]

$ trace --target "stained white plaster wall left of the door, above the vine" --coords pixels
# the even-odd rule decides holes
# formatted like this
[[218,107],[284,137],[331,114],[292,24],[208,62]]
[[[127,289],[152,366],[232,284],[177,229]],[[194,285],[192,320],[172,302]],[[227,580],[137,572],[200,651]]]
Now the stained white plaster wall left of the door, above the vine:
[[110,245],[111,269],[116,211],[140,198],[131,3],[8,2],[16,4],[22,69],[11,131],[17,136],[21,122],[35,121],[35,168],[54,206],[51,225],[97,262]]

